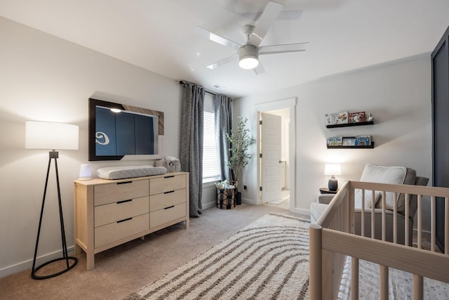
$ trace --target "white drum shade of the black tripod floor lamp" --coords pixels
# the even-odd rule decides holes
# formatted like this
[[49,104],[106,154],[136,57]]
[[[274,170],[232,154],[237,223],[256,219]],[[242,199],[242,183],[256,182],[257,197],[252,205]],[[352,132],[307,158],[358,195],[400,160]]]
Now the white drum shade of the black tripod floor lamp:
[[27,121],[25,148],[78,150],[78,126],[55,122]]

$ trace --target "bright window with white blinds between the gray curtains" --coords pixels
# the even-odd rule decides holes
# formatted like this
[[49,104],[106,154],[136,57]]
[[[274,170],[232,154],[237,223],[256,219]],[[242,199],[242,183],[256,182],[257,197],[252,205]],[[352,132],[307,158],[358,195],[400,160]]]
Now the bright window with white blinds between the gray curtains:
[[212,96],[206,94],[203,115],[203,183],[220,180]]

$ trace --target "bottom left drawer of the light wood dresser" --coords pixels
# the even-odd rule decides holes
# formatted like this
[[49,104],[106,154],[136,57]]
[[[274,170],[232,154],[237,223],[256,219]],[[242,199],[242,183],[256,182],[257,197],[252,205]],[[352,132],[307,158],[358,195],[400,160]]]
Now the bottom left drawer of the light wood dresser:
[[104,226],[95,228],[95,248],[102,247],[110,242],[123,239],[130,235],[140,233],[149,228],[148,214],[134,216],[130,219],[109,223]]

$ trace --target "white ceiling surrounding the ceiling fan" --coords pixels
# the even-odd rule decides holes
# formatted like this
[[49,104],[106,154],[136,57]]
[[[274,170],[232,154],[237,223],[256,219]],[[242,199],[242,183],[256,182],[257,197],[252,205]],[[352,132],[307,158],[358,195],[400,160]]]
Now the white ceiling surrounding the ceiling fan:
[[[261,46],[308,41],[307,51],[261,56],[264,74],[196,34],[245,43],[268,0],[0,0],[0,15],[175,80],[239,97],[431,52],[449,25],[448,0],[276,0],[283,12]],[[221,86],[217,89],[215,86]]]

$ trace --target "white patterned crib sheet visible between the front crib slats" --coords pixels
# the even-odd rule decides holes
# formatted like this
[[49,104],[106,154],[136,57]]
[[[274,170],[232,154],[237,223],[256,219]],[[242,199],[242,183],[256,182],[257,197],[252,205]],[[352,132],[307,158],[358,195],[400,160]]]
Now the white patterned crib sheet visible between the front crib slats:
[[[380,299],[379,265],[359,261],[358,299]],[[351,299],[351,257],[347,256],[338,299]],[[389,268],[389,299],[413,299],[413,275]],[[449,299],[449,284],[424,278],[424,299]]]

